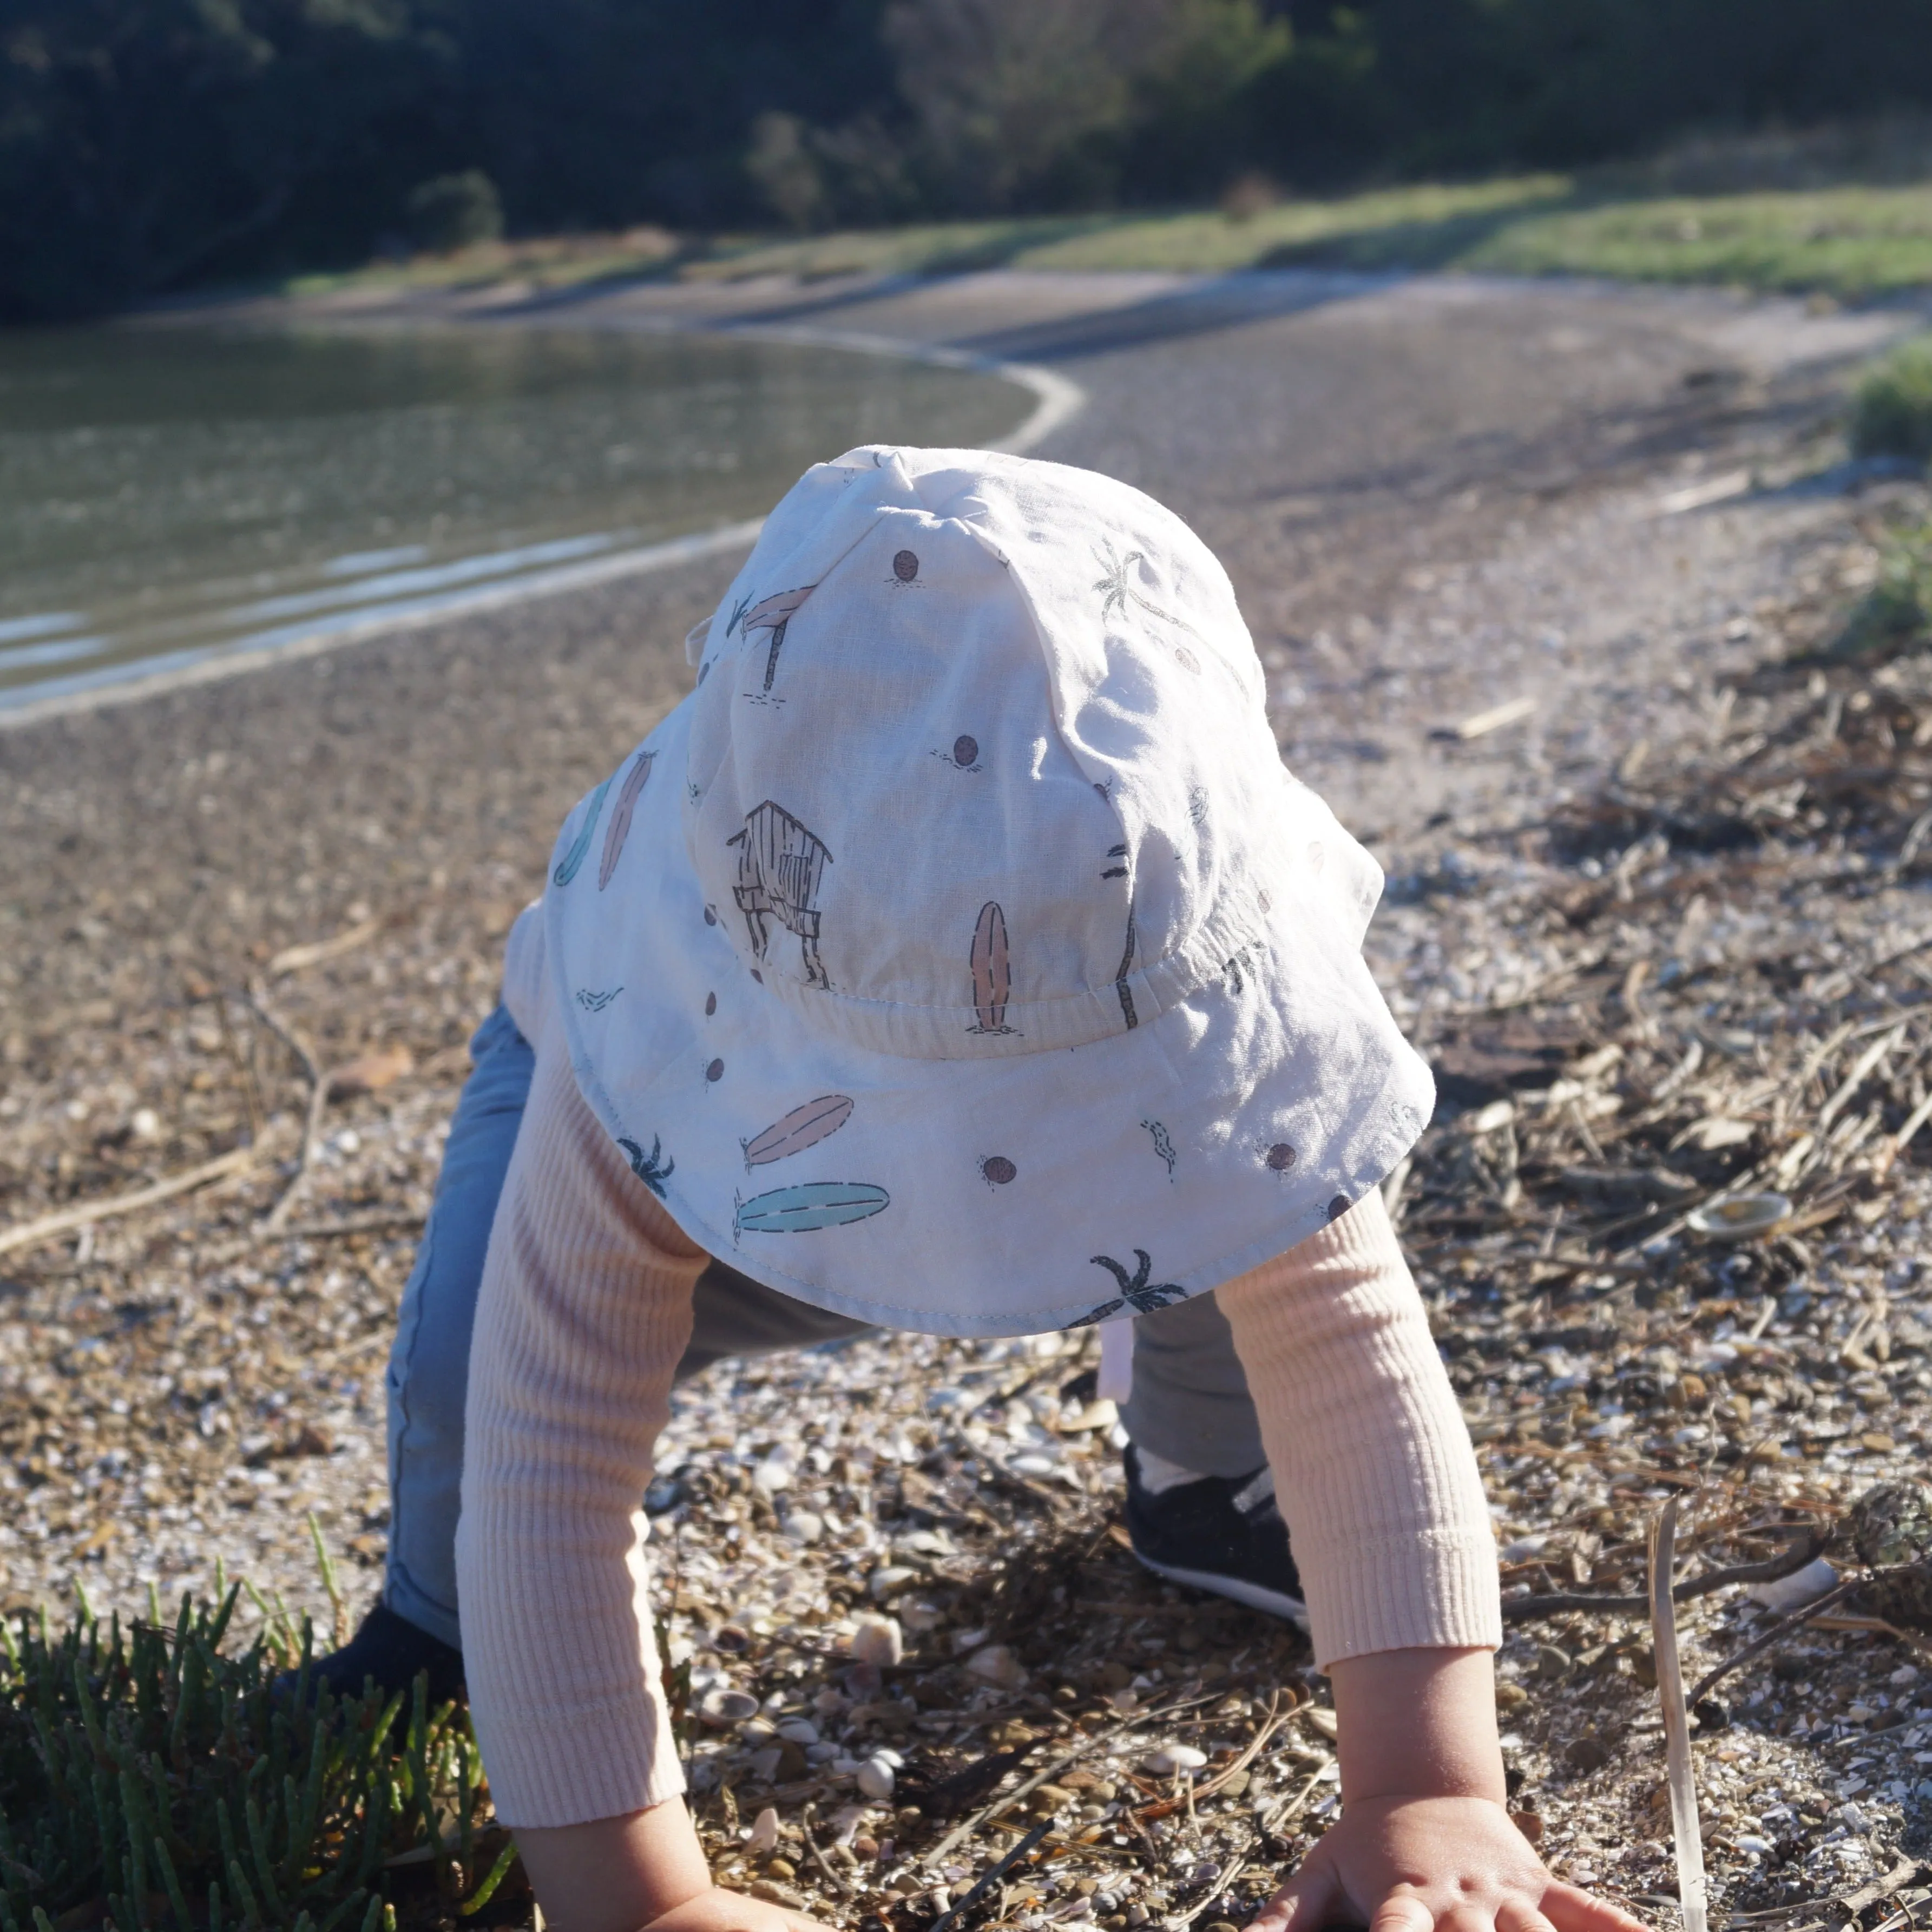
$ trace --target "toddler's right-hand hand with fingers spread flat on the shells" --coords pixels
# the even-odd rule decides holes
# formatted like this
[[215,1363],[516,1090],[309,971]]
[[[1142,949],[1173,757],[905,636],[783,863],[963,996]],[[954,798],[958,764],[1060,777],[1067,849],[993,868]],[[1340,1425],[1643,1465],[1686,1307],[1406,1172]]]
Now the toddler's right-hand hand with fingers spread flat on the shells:
[[1378,1797],[1341,1822],[1248,1932],[1644,1932],[1642,1920],[1544,1870],[1484,1797]]

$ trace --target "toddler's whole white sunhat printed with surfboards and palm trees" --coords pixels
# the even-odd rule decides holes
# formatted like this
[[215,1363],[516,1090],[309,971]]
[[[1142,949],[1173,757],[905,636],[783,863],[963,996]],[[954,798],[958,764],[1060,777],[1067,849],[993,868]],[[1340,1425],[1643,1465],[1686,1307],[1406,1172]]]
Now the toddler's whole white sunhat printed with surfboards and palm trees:
[[840,1314],[1030,1333],[1213,1289],[1414,1142],[1381,873],[1157,502],[852,450],[692,639],[545,891],[578,1084],[692,1240]]

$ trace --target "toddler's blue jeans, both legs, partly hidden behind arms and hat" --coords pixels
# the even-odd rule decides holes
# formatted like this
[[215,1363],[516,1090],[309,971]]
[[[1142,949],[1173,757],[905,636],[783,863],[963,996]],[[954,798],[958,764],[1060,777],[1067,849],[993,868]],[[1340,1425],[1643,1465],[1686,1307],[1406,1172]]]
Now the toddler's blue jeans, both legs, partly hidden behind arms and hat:
[[[535,1053],[498,1007],[469,1041],[442,1173],[388,1356],[388,1573],[383,1600],[446,1644],[456,1615],[456,1515],[464,1472],[464,1395],[483,1254]],[[678,1381],[724,1356],[775,1354],[866,1335],[869,1327],[767,1289],[723,1262],[697,1279],[692,1341]],[[1248,1381],[1211,1294],[1140,1316],[1134,1393],[1121,1420],[1144,1449],[1208,1476],[1248,1476],[1267,1461]]]

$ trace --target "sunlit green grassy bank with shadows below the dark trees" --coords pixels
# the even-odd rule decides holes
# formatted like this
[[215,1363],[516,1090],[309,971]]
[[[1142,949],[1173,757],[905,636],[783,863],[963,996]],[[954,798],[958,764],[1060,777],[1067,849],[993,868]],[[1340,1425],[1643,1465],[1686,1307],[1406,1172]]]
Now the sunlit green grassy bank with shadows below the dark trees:
[[1607,176],[1530,174],[1327,199],[1258,195],[1231,211],[927,222],[788,238],[697,240],[639,230],[493,243],[354,274],[303,276],[288,292],[564,288],[639,274],[817,280],[974,269],[1225,274],[1323,267],[1600,274],[1862,301],[1932,288],[1932,180],[1677,193]]

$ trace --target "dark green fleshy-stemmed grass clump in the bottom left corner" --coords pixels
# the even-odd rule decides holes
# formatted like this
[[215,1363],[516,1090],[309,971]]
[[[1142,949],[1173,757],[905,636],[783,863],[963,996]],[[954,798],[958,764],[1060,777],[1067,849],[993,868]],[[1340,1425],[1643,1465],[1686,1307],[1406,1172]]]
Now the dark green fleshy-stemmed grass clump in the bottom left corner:
[[450,1924],[498,1893],[468,1719],[423,1679],[408,1723],[400,1694],[274,1696],[313,1634],[265,1615],[224,1650],[240,1594],[0,1625],[0,1932],[396,1932],[398,1903]]

